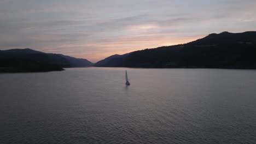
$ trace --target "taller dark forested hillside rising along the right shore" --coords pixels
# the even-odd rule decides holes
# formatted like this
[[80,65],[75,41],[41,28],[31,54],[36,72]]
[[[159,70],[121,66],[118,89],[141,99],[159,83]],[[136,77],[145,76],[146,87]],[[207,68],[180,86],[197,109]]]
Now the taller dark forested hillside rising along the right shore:
[[256,68],[256,32],[209,34],[187,44],[114,55],[95,67]]

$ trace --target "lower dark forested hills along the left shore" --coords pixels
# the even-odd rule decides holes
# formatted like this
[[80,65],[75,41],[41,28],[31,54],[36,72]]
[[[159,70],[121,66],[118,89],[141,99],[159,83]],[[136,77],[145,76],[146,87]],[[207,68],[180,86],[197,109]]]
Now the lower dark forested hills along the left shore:
[[90,67],[87,59],[32,49],[0,50],[0,72],[63,70],[67,67]]

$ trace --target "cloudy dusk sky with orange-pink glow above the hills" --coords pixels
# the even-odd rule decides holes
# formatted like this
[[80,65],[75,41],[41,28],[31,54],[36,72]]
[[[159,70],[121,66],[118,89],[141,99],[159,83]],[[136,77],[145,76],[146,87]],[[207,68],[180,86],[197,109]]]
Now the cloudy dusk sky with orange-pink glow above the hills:
[[97,62],[256,31],[255,0],[0,0],[0,50],[30,48]]

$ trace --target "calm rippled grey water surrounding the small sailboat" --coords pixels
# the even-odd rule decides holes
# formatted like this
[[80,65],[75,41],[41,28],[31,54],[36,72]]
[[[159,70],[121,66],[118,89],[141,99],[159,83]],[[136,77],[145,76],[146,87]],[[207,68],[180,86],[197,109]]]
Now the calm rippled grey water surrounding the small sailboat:
[[255,80],[227,69],[0,74],[0,143],[256,143]]

